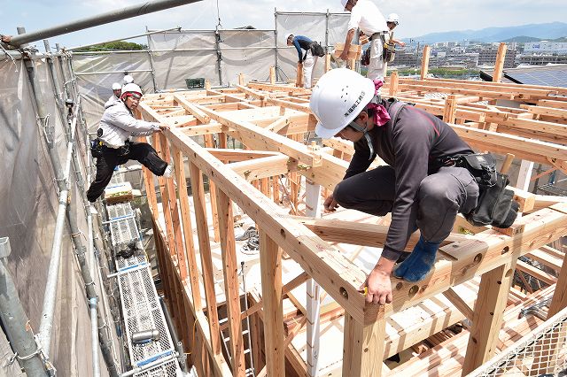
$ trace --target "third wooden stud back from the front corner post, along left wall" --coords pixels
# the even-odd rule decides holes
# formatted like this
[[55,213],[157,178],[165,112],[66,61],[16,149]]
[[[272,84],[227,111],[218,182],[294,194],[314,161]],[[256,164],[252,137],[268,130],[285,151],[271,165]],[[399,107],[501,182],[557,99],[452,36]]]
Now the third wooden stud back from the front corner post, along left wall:
[[215,355],[221,353],[221,335],[219,330],[219,313],[216,310],[216,295],[214,293],[213,259],[209,229],[206,221],[205,188],[203,175],[198,166],[190,162],[191,188],[193,189],[193,207],[197,222],[198,250],[203,270],[203,285],[205,286],[206,317],[211,332],[211,348]]

